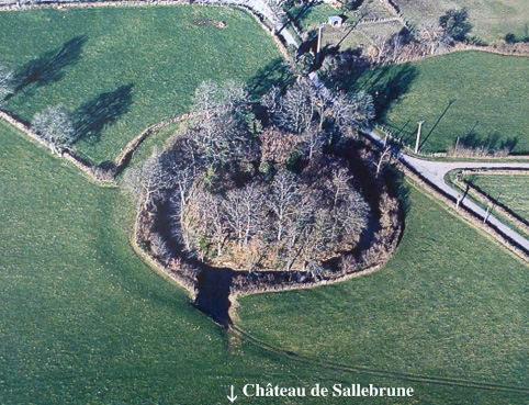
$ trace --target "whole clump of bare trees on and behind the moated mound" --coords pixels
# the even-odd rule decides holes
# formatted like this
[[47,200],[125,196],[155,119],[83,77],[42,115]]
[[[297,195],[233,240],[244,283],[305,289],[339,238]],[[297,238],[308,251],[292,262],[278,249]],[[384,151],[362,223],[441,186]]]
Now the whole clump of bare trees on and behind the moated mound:
[[[317,272],[358,243],[368,204],[346,161],[324,148],[372,119],[369,97],[325,99],[301,80],[256,103],[240,83],[206,81],[193,110],[199,116],[168,150],[125,173],[138,217],[169,202],[184,250],[244,268]],[[161,240],[151,245],[164,250]]]

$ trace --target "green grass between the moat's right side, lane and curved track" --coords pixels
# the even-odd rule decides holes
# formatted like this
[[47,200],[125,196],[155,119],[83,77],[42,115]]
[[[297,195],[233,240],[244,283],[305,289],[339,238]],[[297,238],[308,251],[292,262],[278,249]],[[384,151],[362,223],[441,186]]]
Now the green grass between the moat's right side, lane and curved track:
[[[241,299],[239,325],[322,362],[527,387],[527,271],[413,189],[404,238],[382,270],[333,286]],[[447,398],[438,390],[430,386],[431,397],[420,403],[470,404],[474,395]],[[527,398],[484,394],[479,402]]]

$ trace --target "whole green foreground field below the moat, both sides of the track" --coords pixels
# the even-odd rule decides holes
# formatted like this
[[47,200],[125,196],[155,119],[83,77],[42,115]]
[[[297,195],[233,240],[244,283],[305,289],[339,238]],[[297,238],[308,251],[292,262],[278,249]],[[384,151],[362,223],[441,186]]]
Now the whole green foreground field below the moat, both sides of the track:
[[[526,268],[421,194],[412,194],[403,246],[384,270],[241,301],[245,328],[316,359],[305,363],[226,334],[143,265],[128,246],[119,190],[98,187],[3,123],[0,138],[0,403],[224,404],[233,383],[239,395],[245,383],[372,383],[416,393],[354,398],[370,405],[526,403],[526,394],[502,387],[418,381],[428,373],[527,386],[528,371]],[[483,251],[487,266],[480,267],[473,255]],[[373,365],[376,375],[325,360]],[[418,376],[392,374],[399,371]]]

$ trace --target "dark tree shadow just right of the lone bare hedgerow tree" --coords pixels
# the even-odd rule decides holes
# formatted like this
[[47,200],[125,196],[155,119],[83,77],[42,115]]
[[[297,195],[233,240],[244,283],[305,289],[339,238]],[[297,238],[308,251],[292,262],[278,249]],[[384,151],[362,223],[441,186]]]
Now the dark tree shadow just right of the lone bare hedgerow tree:
[[133,83],[121,86],[114,91],[101,93],[83,103],[74,113],[76,142],[80,139],[91,144],[99,142],[103,128],[128,112],[133,103]]

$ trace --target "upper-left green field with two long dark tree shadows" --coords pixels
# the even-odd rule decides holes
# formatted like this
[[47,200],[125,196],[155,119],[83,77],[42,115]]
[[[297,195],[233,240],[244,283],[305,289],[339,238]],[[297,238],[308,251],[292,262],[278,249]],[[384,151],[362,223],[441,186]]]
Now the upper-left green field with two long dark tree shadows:
[[[221,21],[225,29],[212,23]],[[77,149],[95,164],[113,160],[147,126],[188,112],[201,81],[266,85],[259,75],[280,60],[255,19],[233,8],[2,12],[0,32],[1,58],[22,83],[7,109],[31,121],[64,103],[80,127]]]

